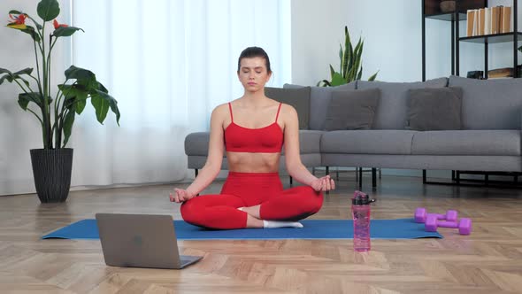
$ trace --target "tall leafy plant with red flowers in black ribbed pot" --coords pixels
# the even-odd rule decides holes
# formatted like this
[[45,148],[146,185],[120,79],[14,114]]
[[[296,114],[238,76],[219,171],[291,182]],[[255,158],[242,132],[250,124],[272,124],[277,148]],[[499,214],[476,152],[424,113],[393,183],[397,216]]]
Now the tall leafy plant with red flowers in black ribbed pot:
[[42,127],[43,147],[30,151],[38,197],[42,203],[64,202],[69,194],[73,167],[73,149],[65,146],[71,136],[74,117],[83,112],[88,98],[100,123],[104,122],[109,108],[118,124],[120,114],[118,102],[87,69],[70,66],[65,70],[64,83],[51,90],[51,53],[55,44],[58,39],[83,30],[58,23],[57,0],[42,0],[36,10],[41,22],[25,12],[13,10],[9,12],[11,21],[7,25],[32,39],[36,71],[25,68],[11,72],[0,68],[0,85],[4,81],[16,83],[21,90],[19,106],[32,113]]

